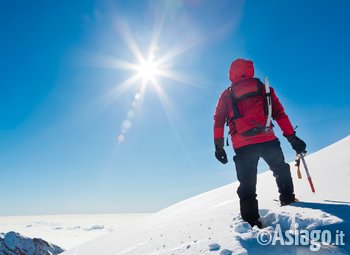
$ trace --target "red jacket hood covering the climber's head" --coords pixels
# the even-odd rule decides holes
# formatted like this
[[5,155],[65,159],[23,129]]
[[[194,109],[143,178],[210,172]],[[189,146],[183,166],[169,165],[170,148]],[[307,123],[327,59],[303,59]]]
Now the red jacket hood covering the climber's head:
[[254,78],[254,64],[251,60],[238,58],[231,63],[229,78],[234,84],[240,80]]

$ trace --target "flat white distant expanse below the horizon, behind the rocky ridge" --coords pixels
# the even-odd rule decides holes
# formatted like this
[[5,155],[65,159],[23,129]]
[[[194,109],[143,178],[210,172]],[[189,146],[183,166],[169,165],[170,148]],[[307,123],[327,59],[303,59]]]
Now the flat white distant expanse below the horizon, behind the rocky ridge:
[[18,232],[71,249],[149,214],[1,216],[0,233]]

